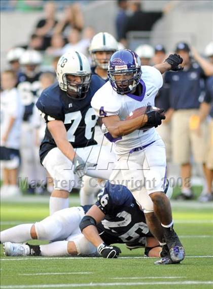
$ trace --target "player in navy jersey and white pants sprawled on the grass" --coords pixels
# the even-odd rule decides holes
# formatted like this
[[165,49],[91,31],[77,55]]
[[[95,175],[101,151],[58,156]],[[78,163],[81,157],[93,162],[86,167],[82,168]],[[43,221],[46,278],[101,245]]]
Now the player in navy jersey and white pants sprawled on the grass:
[[[85,217],[88,210],[94,218],[100,215],[99,223],[98,218],[95,220]],[[93,242],[94,245],[84,237],[79,228],[81,221],[81,227],[85,227],[85,223],[87,224],[89,220],[92,220],[93,224],[98,223],[97,235],[101,236],[100,242]],[[86,228],[83,231],[85,233]],[[20,244],[32,239],[47,240],[52,243]],[[104,245],[99,246],[103,242]],[[98,195],[95,205],[63,209],[40,222],[21,224],[3,230],[1,243],[4,243],[5,254],[8,256],[85,256],[96,255],[98,252],[105,258],[113,258],[121,252],[118,247],[110,246],[114,243],[126,243],[129,248],[134,248],[136,243],[137,247],[145,247],[147,256],[163,256],[163,252],[160,253],[162,248],[150,233],[144,213],[140,211],[131,192],[122,185],[112,185],[109,182]]]

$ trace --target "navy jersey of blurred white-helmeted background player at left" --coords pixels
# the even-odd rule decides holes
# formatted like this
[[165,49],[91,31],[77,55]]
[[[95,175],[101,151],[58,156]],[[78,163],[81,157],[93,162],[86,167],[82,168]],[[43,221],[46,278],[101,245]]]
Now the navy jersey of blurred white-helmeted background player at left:
[[33,77],[28,77],[25,73],[18,73],[17,89],[20,93],[22,103],[24,105],[23,121],[29,121],[32,115],[33,106],[39,97],[41,84],[39,81],[42,72],[35,74]]

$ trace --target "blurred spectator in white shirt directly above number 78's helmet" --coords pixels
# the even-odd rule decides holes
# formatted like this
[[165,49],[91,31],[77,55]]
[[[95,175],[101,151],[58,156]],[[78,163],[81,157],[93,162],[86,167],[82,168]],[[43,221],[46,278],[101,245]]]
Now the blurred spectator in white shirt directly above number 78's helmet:
[[63,54],[70,50],[77,50],[83,54],[88,54],[88,47],[90,44],[90,39],[81,39],[80,32],[77,29],[72,29],[68,36],[69,43],[63,47]]

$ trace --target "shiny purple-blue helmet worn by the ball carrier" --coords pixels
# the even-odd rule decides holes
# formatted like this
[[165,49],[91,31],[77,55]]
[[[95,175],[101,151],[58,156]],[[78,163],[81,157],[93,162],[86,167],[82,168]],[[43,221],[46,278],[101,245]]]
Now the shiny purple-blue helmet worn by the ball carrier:
[[108,77],[117,93],[133,92],[140,81],[141,73],[140,59],[135,52],[122,49],[111,56]]

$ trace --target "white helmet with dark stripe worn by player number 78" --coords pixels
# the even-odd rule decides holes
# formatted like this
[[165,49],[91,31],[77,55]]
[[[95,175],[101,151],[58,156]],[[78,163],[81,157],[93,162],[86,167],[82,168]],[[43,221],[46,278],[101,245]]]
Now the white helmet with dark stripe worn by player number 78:
[[[62,91],[69,97],[83,99],[89,90],[91,69],[87,57],[78,51],[63,54],[57,64],[57,80]],[[81,82],[70,81],[68,75],[78,76]]]

